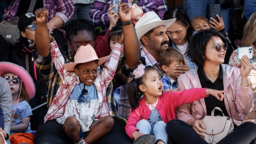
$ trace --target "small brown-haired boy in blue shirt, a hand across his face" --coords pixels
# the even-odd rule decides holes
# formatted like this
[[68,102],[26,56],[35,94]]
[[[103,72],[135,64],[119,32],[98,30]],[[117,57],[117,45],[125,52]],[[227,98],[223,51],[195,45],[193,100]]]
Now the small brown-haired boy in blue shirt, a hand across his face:
[[159,54],[159,64],[164,71],[164,76],[162,82],[164,85],[163,92],[167,91],[177,91],[178,75],[174,73],[176,64],[183,64],[184,57],[178,50],[173,48],[168,48],[160,52]]

